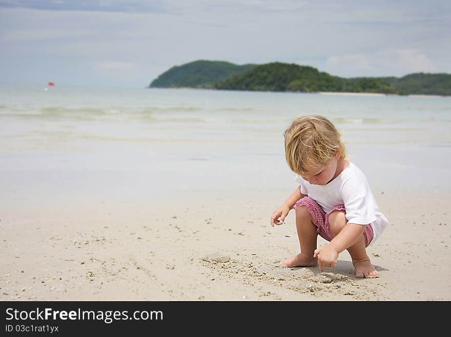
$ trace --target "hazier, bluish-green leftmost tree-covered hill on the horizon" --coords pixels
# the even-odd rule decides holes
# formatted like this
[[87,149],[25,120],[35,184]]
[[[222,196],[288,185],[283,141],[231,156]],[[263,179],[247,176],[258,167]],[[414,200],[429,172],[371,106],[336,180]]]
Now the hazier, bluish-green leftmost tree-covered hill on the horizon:
[[151,88],[213,88],[214,84],[232,74],[245,72],[255,65],[236,65],[223,61],[194,61],[175,66],[159,75]]

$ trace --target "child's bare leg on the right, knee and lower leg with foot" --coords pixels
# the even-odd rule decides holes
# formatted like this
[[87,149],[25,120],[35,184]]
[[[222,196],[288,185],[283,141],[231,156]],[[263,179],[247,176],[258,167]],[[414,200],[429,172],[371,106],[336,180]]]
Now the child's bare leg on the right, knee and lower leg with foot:
[[[329,214],[329,227],[334,236],[338,235],[346,223],[347,220],[344,211],[334,211]],[[371,264],[370,257],[366,254],[363,234],[354,245],[347,248],[347,251],[351,255],[354,268],[356,268],[356,277],[368,277],[370,279],[379,277],[376,268]]]

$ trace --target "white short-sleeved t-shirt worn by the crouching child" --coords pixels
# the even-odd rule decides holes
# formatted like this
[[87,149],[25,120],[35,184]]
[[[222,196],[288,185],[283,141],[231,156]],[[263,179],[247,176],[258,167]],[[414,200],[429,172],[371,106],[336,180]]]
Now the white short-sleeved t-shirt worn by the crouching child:
[[373,227],[371,243],[378,239],[388,225],[388,220],[379,211],[366,176],[351,162],[326,185],[312,185],[300,175],[296,175],[295,180],[301,184],[301,193],[315,200],[325,213],[329,213],[338,205],[344,205],[348,223],[371,224]]

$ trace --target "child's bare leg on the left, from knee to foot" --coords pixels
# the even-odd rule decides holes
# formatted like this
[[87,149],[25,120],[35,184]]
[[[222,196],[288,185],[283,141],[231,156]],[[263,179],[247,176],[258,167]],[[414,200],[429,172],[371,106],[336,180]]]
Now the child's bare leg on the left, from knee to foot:
[[312,215],[305,206],[296,208],[296,230],[298,233],[301,252],[282,260],[284,267],[310,267],[316,266],[318,259],[313,257],[317,243],[317,227],[313,223]]

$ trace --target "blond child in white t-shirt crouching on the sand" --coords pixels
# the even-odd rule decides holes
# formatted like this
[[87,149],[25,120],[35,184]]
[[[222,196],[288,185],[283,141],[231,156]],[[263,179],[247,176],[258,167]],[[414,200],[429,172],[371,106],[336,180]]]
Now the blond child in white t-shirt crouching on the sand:
[[[300,186],[276,209],[271,225],[281,225],[293,208],[301,252],[281,261],[285,267],[335,267],[347,249],[356,277],[379,277],[366,247],[388,224],[365,175],[345,159],[335,126],[323,116],[296,118],[285,130],[286,163]],[[317,235],[330,243],[317,248]]]

